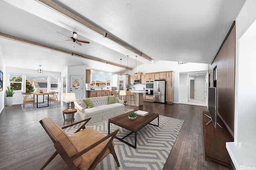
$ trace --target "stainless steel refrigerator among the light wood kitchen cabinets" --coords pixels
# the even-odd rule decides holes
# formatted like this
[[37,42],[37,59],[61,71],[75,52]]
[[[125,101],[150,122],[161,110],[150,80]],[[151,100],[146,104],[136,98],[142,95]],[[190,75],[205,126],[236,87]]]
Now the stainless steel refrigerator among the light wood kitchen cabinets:
[[165,103],[165,80],[155,80],[153,87],[154,102]]

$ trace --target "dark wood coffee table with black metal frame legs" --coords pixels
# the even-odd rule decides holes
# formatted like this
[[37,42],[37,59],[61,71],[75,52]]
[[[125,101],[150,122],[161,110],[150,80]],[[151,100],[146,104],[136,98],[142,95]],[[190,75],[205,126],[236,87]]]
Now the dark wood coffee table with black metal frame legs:
[[[131,111],[131,112],[135,112],[135,111],[138,111],[138,110],[134,110],[134,111]],[[152,122],[156,118],[158,118],[157,125],[151,124],[150,122]],[[117,138],[118,140],[120,140],[120,141],[124,142],[125,144],[128,144],[129,146],[132,146],[133,148],[136,149],[136,146],[137,146],[137,132],[141,128],[143,128],[144,126],[146,126],[148,124],[158,127],[159,126],[159,114],[148,112],[148,115],[146,115],[144,117],[137,115],[137,119],[134,119],[134,120],[128,119],[128,113],[118,115],[116,117],[108,119],[108,134],[110,134],[110,123],[112,123],[114,125],[118,125],[122,128],[126,128],[127,130],[130,130],[130,131],[134,132],[134,134],[135,134],[135,136],[134,136],[134,139],[135,139],[134,145],[132,145],[132,144],[123,140],[124,138],[129,136],[132,132],[130,132],[129,134],[127,134],[123,138],[118,138],[117,136],[115,138]]]

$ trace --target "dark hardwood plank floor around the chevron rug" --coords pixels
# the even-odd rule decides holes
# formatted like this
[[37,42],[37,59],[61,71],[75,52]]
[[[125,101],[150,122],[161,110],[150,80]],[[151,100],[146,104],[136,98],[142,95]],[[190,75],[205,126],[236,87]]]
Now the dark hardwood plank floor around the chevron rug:
[[[0,114],[0,170],[40,169],[55,149],[39,121],[50,117],[62,126],[62,110],[68,109],[69,103],[59,102],[59,105],[61,107],[29,112],[22,112],[21,105],[4,107]],[[164,170],[228,169],[227,166],[204,158],[202,111],[207,111],[207,107],[147,101],[141,107],[126,107],[184,120]],[[68,167],[57,155],[45,169],[66,170]]]

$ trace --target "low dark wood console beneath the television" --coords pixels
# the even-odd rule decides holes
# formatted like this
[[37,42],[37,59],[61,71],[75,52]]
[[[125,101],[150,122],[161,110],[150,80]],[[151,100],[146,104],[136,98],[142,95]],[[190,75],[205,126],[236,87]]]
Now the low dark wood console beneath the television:
[[205,160],[209,158],[226,166],[230,166],[231,158],[226,149],[226,142],[232,142],[232,140],[224,128],[220,128],[218,125],[217,128],[214,128],[212,123],[206,125],[210,119],[204,114],[210,116],[210,113],[203,111]]

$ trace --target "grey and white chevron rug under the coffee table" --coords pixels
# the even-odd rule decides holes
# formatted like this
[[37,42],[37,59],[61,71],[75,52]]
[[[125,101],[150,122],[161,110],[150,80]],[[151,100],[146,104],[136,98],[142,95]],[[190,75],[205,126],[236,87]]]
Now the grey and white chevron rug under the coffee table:
[[[157,125],[157,119],[152,121]],[[159,127],[146,125],[137,133],[137,148],[134,149],[120,140],[114,139],[116,155],[120,167],[116,165],[112,154],[104,158],[96,167],[97,170],[161,170],[170,154],[172,146],[180,132],[184,121],[170,117],[159,116]],[[68,134],[73,134],[79,125],[65,129]],[[108,119],[86,125],[102,134],[108,134]],[[122,138],[130,133],[129,130],[120,128],[114,124],[110,126],[110,132],[119,129],[118,137]],[[134,145],[134,133],[125,138]]]

